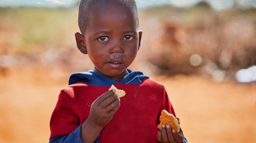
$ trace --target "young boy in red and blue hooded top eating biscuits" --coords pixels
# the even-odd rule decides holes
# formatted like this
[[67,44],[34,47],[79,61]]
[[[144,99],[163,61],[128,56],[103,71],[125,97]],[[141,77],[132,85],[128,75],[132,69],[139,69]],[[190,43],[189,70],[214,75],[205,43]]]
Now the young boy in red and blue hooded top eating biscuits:
[[[175,115],[163,85],[127,67],[142,31],[134,0],[81,0],[76,44],[94,70],[74,73],[61,90],[50,121],[50,143],[186,143],[183,132],[163,125],[161,111]],[[114,84],[125,90],[117,98]]]

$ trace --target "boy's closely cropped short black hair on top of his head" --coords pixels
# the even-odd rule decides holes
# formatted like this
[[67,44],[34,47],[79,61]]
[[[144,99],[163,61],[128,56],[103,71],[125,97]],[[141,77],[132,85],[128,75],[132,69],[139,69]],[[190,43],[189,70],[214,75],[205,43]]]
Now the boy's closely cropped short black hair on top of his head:
[[138,9],[135,0],[80,0],[79,3],[79,14],[78,14],[78,25],[81,34],[84,34],[88,25],[90,25],[91,13],[90,8],[96,4],[108,4],[108,3],[121,3],[127,6],[135,14],[137,26],[139,26]]

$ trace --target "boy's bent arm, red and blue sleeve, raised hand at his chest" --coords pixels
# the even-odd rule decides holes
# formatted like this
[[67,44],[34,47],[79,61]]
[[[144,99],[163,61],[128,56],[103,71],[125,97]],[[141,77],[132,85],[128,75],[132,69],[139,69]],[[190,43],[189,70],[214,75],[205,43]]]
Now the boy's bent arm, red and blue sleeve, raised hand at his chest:
[[[114,94],[114,90],[103,93],[93,102],[89,117],[79,126],[79,117],[73,111],[70,101],[70,96],[73,95],[67,93],[73,92],[62,91],[52,113],[50,121],[51,142],[58,143],[62,140],[63,143],[95,143],[99,132],[111,121],[119,109],[120,99]],[[60,135],[61,138],[57,138]],[[56,138],[52,140],[53,137]]]

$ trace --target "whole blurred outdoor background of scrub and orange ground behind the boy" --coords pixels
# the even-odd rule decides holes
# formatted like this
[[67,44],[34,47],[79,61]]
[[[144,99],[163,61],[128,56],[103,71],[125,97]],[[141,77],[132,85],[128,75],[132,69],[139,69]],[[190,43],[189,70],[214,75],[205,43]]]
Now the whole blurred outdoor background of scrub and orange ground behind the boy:
[[[0,143],[47,143],[76,48],[79,0],[0,0]],[[189,143],[256,140],[256,0],[137,0],[130,66],[164,84]]]

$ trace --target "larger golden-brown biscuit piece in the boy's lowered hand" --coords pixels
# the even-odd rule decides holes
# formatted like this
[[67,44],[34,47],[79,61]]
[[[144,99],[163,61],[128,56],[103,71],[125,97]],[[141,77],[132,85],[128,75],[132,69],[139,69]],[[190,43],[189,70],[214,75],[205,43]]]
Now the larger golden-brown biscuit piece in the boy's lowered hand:
[[175,118],[174,115],[170,114],[166,110],[163,110],[160,115],[160,124],[157,126],[158,129],[162,128],[162,125],[170,125],[172,129],[175,129],[177,132],[180,132],[180,122]]

